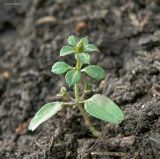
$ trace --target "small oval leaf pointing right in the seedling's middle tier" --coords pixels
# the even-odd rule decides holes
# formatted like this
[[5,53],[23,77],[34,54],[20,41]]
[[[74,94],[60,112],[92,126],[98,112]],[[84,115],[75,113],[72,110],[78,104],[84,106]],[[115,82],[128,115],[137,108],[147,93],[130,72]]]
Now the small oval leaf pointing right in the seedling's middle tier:
[[81,70],[82,72],[85,72],[87,75],[89,75],[92,78],[95,78],[97,80],[101,80],[105,78],[105,71],[102,67],[98,65],[90,65],[86,68]]

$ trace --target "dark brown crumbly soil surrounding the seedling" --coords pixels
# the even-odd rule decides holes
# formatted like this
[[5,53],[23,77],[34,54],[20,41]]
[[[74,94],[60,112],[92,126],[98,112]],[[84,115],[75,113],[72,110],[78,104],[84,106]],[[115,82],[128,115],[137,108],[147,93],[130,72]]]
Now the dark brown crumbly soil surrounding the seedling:
[[[26,0],[0,2],[0,159],[159,159],[160,1]],[[101,54],[99,92],[125,112],[114,126],[66,109],[35,132],[35,112],[65,85],[50,68],[69,35],[87,35]],[[64,60],[74,64],[72,59]]]

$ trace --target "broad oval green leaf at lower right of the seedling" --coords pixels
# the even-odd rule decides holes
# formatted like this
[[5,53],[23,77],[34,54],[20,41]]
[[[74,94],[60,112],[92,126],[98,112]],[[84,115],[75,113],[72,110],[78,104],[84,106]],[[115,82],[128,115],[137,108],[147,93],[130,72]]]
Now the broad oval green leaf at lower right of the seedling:
[[124,119],[122,110],[104,95],[93,95],[85,101],[84,107],[90,115],[113,124],[120,124]]

